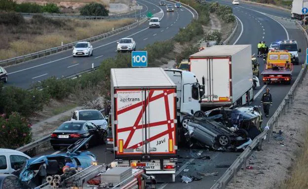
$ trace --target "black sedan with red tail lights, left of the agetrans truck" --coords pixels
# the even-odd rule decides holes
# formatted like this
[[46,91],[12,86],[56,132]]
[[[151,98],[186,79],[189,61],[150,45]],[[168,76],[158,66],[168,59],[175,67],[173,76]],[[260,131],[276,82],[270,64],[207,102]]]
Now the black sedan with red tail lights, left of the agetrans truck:
[[90,145],[104,143],[106,130],[96,126],[91,121],[66,121],[52,132],[50,144],[54,150],[59,150],[60,147],[70,146],[77,140],[88,138],[91,135],[93,135],[93,137],[84,145],[85,149],[88,149]]

